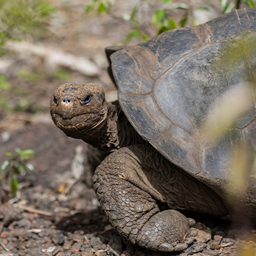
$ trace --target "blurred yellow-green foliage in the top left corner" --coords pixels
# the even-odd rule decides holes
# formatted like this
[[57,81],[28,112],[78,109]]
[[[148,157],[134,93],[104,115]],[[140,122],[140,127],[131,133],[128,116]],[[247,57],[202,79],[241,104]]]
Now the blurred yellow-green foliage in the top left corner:
[[0,0],[0,49],[7,39],[24,33],[40,35],[47,18],[57,9],[41,0]]

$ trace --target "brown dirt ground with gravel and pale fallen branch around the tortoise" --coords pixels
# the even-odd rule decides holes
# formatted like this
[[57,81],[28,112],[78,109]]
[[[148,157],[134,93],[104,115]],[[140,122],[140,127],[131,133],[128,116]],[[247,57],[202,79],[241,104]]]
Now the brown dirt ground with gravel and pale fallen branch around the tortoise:
[[[207,4],[194,2],[189,4]],[[0,74],[11,84],[11,90],[0,89],[0,164],[8,159],[5,152],[15,148],[33,149],[36,155],[31,160],[35,171],[19,176],[14,199],[1,174],[0,256],[168,255],[136,247],[117,235],[86,172],[88,146],[68,138],[49,116],[51,94],[64,82],[100,84],[107,99],[116,100],[104,47],[122,43],[130,28],[106,15],[84,17],[89,1],[51,3],[59,11],[47,31],[41,37],[27,36],[25,43],[7,44],[9,55],[0,59]],[[125,13],[134,3],[117,1],[116,12]],[[221,13],[217,3],[210,9],[204,14],[209,19]],[[197,242],[172,255],[256,255],[254,227],[205,215],[191,217],[199,229]]]

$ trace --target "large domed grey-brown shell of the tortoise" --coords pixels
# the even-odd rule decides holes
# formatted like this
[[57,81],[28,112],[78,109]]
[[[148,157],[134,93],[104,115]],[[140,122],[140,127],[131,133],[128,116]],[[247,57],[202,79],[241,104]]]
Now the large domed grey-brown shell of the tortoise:
[[166,31],[110,58],[122,110],[168,160],[220,190],[241,150],[252,166],[256,8]]

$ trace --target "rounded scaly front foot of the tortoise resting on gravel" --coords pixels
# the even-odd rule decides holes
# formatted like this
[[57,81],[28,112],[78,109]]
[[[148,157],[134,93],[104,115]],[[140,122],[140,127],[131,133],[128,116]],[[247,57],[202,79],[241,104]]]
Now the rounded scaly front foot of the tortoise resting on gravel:
[[193,243],[197,235],[190,231],[194,223],[175,210],[156,213],[144,224],[136,243],[154,251],[182,251]]

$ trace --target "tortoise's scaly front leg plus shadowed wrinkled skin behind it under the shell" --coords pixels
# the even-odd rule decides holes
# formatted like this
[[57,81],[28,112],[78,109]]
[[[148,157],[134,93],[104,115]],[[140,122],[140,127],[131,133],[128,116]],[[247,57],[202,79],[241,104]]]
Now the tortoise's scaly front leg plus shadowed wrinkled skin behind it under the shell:
[[[124,147],[110,154],[96,169],[93,180],[102,209],[116,231],[132,243],[155,251],[180,251],[193,242],[189,219],[175,210],[159,212],[156,201],[173,207],[178,199],[175,209],[227,213],[213,190],[148,144]],[[178,190],[183,184],[188,187]]]

